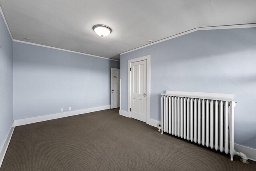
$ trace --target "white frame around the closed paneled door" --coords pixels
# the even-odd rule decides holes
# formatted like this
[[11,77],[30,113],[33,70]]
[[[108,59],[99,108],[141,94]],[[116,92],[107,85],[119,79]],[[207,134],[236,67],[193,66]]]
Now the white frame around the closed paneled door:
[[128,115],[131,117],[131,112],[130,112],[130,108],[131,108],[131,72],[130,72],[131,63],[139,62],[139,61],[143,61],[143,60],[147,61],[146,123],[148,123],[149,119],[150,119],[150,55],[128,60]]

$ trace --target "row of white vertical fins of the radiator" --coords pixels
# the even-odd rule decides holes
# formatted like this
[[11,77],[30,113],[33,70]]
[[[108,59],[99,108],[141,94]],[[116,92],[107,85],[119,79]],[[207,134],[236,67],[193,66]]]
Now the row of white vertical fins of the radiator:
[[229,153],[230,102],[162,95],[163,132]]

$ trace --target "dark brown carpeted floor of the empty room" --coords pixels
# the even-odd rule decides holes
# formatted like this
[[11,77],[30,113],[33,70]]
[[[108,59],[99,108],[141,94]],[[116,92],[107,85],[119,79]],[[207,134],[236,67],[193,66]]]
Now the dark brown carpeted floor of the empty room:
[[15,127],[0,171],[254,170],[108,109]]

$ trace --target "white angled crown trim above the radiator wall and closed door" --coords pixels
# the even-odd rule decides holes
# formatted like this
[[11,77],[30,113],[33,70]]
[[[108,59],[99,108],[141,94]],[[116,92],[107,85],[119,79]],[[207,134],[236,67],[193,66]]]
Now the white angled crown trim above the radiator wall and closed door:
[[135,50],[138,50],[138,49],[141,49],[141,48],[145,48],[147,46],[151,46],[153,44],[157,44],[157,43],[160,43],[160,42],[164,42],[166,40],[170,40],[170,39],[173,39],[173,38],[176,38],[176,37],[179,37],[179,36],[183,36],[185,34],[189,34],[189,33],[192,33],[192,32],[196,32],[198,30],[218,30],[218,29],[231,29],[231,28],[251,28],[251,27],[256,27],[256,24],[237,24],[237,25],[228,25],[228,26],[210,26],[210,27],[198,27],[198,28],[193,28],[191,30],[188,30],[188,31],[185,31],[185,32],[182,32],[182,33],[178,33],[178,34],[175,34],[173,36],[170,36],[168,38],[164,38],[164,39],[161,39],[161,40],[158,40],[156,42],[152,42],[150,44],[146,44],[144,46],[140,46],[138,48],[134,48],[132,50],[128,50],[126,52],[122,52],[120,55],[123,55],[123,54],[127,54],[129,52],[132,52],[132,51],[135,51]]

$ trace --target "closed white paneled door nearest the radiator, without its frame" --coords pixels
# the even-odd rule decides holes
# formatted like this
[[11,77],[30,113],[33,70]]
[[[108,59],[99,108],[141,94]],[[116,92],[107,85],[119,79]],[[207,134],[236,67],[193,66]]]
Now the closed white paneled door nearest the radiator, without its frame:
[[131,63],[131,117],[146,122],[147,61]]

